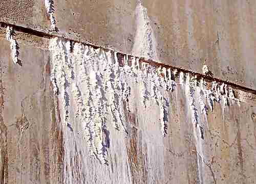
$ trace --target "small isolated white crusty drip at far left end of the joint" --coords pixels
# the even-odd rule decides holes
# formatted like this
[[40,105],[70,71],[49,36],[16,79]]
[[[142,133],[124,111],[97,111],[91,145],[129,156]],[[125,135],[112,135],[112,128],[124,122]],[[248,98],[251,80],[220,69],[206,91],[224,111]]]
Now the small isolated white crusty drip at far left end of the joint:
[[18,50],[17,50],[17,42],[13,38],[13,28],[8,26],[6,28],[6,39],[10,42],[12,61],[14,64],[18,63]]

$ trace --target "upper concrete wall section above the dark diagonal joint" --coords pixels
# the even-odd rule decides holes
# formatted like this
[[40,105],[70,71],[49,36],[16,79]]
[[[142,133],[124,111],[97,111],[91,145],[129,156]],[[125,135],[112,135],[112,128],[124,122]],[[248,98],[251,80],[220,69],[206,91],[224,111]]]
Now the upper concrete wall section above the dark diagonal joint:
[[[256,89],[254,0],[53,4],[60,35],[198,72],[207,64],[214,76]],[[50,27],[44,1],[2,1],[0,10],[1,20],[44,32]]]

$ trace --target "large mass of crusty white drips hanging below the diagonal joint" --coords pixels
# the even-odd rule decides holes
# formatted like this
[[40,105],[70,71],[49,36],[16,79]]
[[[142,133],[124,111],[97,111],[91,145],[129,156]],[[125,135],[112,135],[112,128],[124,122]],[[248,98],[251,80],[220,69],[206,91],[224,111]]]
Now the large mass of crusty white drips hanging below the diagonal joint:
[[[177,69],[151,65],[112,50],[96,49],[60,38],[50,41],[50,50],[51,83],[58,99],[56,108],[59,109],[65,134],[71,132],[70,135],[81,135],[76,144],[80,142],[80,149],[84,147],[99,163],[108,164],[110,129],[117,132],[119,139],[121,135],[129,134],[128,114],[139,111],[134,109],[135,103],[144,108],[145,115],[154,106],[154,111],[158,112],[156,123],[159,135],[164,139],[168,135],[168,126],[172,126],[170,94],[179,85],[186,96],[187,114],[190,116],[188,126],[194,127],[199,159],[206,159],[203,149],[204,130],[207,128],[208,114],[214,111],[214,103],[223,101],[223,106],[239,103],[233,90],[225,84],[212,82],[208,88],[203,78]],[[75,129],[77,124],[78,130]],[[67,139],[65,144],[68,145],[72,137],[63,137]],[[67,163],[72,157],[71,152],[69,150],[65,153]],[[198,160],[199,172],[203,172],[202,167],[202,161]],[[72,178],[71,174],[69,177]]]

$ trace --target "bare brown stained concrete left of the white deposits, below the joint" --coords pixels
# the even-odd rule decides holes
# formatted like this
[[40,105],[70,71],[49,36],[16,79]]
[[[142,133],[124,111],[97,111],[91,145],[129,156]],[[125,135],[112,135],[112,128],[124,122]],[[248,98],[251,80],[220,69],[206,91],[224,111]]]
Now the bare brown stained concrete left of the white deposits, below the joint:
[[50,90],[49,52],[20,44],[20,67],[9,45],[1,40],[1,183],[62,183],[62,133]]

